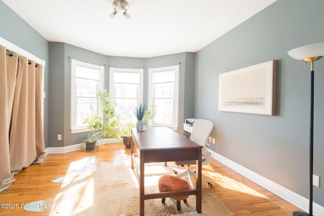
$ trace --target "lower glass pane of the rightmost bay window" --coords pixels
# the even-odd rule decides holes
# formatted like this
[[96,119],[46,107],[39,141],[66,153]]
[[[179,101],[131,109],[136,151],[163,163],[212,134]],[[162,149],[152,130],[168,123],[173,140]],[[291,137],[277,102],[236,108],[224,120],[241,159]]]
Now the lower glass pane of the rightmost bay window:
[[172,99],[154,99],[156,105],[156,114],[154,123],[172,124],[173,122],[173,100]]

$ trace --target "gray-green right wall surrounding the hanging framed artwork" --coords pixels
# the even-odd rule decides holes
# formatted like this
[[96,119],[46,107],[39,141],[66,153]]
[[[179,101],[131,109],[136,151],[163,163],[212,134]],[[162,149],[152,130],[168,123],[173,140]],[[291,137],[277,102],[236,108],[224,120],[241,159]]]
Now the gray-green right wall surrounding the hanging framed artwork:
[[[279,0],[196,53],[195,117],[214,122],[210,148],[308,197],[310,64],[291,49],[324,41],[324,1]],[[220,73],[277,62],[276,115],[218,111]],[[324,178],[324,60],[314,63],[314,174]],[[324,187],[314,201],[324,206]]]

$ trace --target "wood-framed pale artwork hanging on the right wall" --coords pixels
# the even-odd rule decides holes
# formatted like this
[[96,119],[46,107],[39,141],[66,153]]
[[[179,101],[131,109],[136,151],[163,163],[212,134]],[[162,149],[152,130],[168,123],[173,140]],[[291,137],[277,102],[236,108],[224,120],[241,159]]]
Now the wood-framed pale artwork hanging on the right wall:
[[219,74],[218,110],[275,115],[276,60]]

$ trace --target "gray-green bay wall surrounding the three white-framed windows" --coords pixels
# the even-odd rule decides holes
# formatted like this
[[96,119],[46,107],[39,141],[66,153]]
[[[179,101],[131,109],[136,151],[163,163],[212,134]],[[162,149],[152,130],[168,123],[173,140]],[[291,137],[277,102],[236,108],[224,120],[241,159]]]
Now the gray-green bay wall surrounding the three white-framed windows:
[[[49,147],[66,147],[78,144],[88,135],[88,133],[70,133],[70,58],[91,64],[104,65],[104,86],[108,91],[109,67],[144,68],[144,97],[148,95],[148,68],[180,63],[179,133],[182,134],[183,132],[184,116],[190,117],[194,115],[194,53],[172,54],[147,59],[113,57],[61,42],[49,42],[49,50],[51,60],[49,69]],[[185,105],[185,101],[190,103]],[[62,135],[62,140],[57,140],[59,134]]]

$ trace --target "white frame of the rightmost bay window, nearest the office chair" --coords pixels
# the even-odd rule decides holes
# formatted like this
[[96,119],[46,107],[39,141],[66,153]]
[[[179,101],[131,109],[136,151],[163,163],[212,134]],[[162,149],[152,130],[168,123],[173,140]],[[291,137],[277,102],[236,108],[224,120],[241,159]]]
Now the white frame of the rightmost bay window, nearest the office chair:
[[179,65],[168,66],[168,67],[159,67],[159,68],[149,68],[148,69],[148,106],[150,107],[153,104],[153,83],[152,83],[152,74],[154,72],[164,72],[164,71],[175,71],[175,79],[174,79],[174,105],[173,105],[173,121],[172,124],[159,124],[154,123],[153,119],[150,120],[148,123],[151,126],[167,126],[171,129],[177,131],[178,129],[178,121],[179,121],[179,73],[180,67]]

